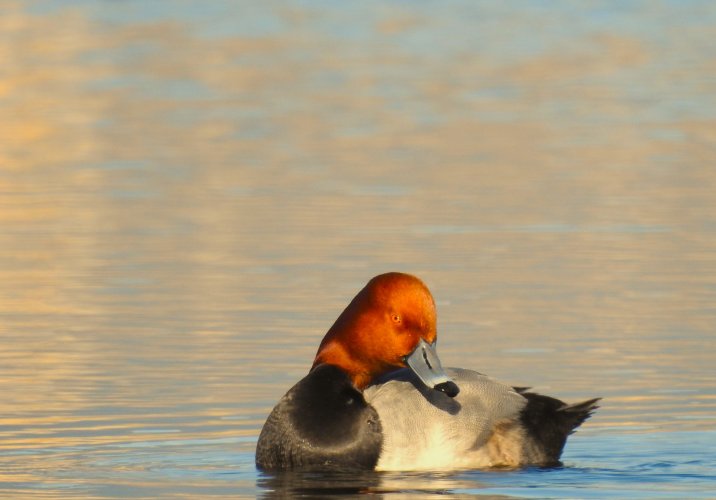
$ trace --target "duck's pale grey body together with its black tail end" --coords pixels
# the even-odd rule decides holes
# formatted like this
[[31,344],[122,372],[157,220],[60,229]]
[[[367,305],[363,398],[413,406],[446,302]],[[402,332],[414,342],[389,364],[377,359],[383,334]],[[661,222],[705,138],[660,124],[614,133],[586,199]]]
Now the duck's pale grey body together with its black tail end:
[[567,437],[597,399],[566,404],[481,373],[448,368],[455,398],[426,388],[409,370],[365,390],[383,429],[379,469],[555,465]]

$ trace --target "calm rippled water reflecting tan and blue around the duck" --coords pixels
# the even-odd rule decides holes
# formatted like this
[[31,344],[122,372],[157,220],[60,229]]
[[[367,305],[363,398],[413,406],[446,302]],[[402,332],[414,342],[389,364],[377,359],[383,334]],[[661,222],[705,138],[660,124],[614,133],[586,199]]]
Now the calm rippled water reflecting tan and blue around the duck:
[[[709,1],[0,2],[0,496],[716,498]],[[559,469],[265,475],[357,290],[602,408]]]

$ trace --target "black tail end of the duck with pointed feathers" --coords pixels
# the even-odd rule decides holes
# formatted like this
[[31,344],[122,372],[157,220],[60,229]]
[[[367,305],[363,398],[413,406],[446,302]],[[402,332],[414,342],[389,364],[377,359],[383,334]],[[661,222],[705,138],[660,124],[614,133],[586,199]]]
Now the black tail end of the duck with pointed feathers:
[[520,420],[533,443],[545,457],[545,465],[558,464],[567,436],[599,408],[601,398],[566,404],[559,399],[519,391],[527,399]]

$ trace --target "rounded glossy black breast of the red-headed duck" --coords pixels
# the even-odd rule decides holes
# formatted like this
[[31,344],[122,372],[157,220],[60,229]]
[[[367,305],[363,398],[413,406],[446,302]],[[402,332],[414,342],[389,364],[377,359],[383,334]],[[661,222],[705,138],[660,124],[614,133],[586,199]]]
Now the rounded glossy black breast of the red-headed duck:
[[378,413],[350,378],[319,365],[281,398],[256,445],[263,470],[373,469],[383,442]]

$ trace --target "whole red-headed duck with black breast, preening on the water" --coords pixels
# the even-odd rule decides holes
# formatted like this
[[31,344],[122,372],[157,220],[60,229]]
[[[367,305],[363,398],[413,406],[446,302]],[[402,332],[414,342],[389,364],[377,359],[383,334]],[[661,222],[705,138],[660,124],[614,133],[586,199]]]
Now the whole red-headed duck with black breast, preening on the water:
[[598,408],[443,368],[437,313],[418,277],[372,278],[279,400],[256,444],[262,471],[551,467]]

